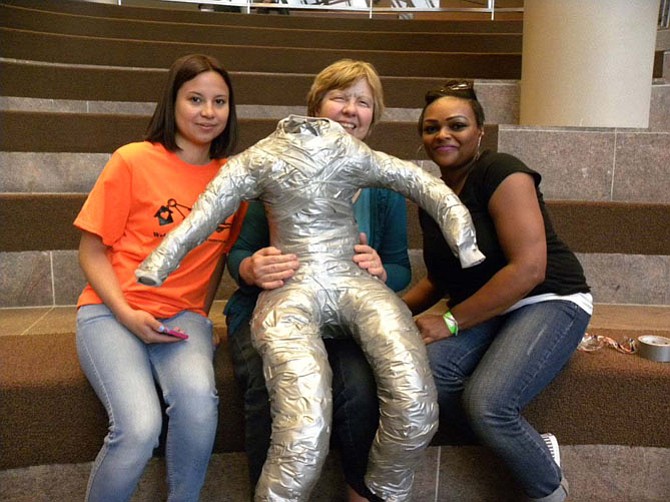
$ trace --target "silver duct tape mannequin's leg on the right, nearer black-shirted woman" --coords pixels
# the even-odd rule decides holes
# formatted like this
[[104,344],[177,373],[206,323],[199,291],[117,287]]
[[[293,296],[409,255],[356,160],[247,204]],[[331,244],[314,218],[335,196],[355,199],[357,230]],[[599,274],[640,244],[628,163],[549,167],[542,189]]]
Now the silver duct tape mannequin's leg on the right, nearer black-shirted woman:
[[425,345],[406,305],[377,281],[366,282],[343,305],[378,386],[380,423],[366,483],[382,499],[409,500],[414,469],[438,424]]

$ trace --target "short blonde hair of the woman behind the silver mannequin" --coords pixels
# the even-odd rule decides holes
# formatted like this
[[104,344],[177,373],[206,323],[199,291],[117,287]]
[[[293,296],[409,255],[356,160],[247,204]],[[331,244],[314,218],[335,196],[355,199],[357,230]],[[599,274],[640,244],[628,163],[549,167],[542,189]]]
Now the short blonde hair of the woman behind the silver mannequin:
[[375,67],[365,61],[354,59],[340,59],[326,66],[314,78],[312,87],[307,94],[307,115],[315,117],[326,93],[333,89],[346,89],[364,78],[372,91],[374,109],[372,110],[372,124],[374,126],[384,113],[384,90],[379,74]]

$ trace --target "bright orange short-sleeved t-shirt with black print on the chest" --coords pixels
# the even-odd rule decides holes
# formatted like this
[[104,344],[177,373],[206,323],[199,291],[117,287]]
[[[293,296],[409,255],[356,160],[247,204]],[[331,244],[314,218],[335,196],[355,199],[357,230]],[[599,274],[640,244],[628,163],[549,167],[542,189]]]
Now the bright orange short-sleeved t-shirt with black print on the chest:
[[[190,213],[224,163],[188,164],[163,145],[147,141],[122,146],[112,155],[74,225],[109,246],[109,259],[131,307],[157,318],[182,310],[206,315],[210,278],[239,235],[246,204],[188,253],[161,286],[139,284],[135,269]],[[87,284],[77,306],[99,303],[102,300]]]

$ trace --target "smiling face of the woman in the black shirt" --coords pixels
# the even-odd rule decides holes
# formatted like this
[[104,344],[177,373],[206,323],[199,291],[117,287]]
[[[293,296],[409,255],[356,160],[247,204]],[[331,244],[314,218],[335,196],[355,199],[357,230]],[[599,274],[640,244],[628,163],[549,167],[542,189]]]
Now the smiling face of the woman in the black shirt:
[[421,137],[426,153],[441,169],[465,166],[479,152],[484,131],[465,99],[445,96],[424,111]]

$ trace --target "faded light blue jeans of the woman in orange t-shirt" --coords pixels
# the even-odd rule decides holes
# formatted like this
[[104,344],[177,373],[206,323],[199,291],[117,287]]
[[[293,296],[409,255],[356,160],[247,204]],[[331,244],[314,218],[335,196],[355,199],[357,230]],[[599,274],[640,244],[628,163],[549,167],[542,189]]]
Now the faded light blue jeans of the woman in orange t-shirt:
[[189,339],[145,344],[105,305],[78,311],[79,362],[109,417],[109,432],[89,478],[89,501],[130,500],[159,443],[159,391],[168,416],[168,500],[199,498],[218,420],[212,323],[187,311],[162,322],[181,328]]

